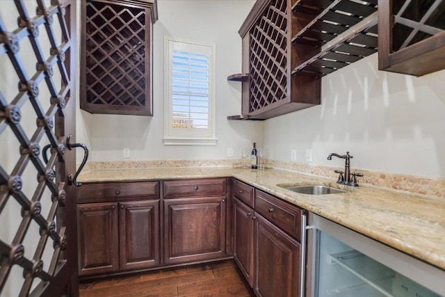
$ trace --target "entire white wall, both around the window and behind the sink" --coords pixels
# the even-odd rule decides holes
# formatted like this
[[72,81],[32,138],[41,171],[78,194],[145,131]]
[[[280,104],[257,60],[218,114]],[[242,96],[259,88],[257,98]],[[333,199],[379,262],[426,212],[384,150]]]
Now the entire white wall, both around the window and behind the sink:
[[[445,71],[424,77],[378,71],[374,54],[323,78],[321,106],[264,122],[228,121],[241,112],[241,83],[227,81],[241,70],[237,31],[253,0],[159,0],[154,24],[154,116],[91,115],[78,112],[77,139],[90,146],[92,161],[225,159],[227,148],[256,141],[270,159],[342,166],[330,152],[355,156],[353,168],[424,177],[445,176]],[[204,24],[204,25],[203,25]],[[216,44],[216,137],[218,144],[165,146],[163,138],[163,38]],[[79,158],[78,158],[79,161]]]

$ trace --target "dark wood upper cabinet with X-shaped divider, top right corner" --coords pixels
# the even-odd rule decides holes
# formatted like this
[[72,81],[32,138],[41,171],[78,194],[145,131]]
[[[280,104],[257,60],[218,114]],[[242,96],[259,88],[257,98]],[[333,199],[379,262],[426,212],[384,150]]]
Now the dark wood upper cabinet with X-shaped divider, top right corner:
[[445,69],[445,1],[378,0],[379,70]]

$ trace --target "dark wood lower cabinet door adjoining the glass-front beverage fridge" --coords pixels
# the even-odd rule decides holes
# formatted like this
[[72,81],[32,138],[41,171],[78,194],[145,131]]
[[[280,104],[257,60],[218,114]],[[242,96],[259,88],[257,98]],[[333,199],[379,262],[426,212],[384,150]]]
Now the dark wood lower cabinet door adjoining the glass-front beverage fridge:
[[298,296],[300,243],[259,214],[254,220],[254,291],[257,296]]

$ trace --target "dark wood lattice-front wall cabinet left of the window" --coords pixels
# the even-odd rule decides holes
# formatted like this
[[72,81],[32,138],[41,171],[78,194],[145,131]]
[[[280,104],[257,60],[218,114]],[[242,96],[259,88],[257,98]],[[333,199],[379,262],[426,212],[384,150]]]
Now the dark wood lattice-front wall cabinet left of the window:
[[156,0],[86,0],[81,18],[81,109],[153,115]]

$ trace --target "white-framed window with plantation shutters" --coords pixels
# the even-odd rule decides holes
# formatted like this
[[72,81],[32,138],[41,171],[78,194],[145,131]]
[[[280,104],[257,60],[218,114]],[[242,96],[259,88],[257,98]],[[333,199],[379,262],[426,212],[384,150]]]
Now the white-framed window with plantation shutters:
[[215,145],[214,46],[165,38],[166,145]]

